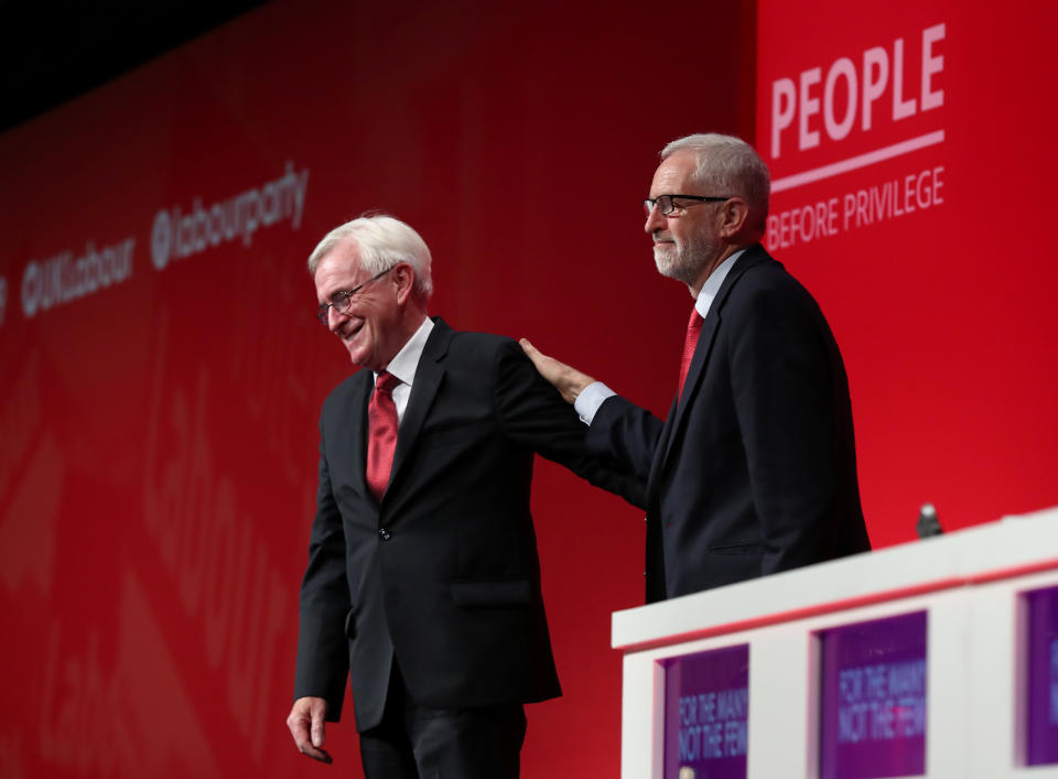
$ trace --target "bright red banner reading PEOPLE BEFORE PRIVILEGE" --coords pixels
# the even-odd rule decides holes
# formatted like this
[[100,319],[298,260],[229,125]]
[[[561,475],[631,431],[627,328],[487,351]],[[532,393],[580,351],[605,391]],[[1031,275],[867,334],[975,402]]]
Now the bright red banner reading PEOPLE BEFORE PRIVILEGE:
[[1051,3],[760,0],[766,245],[845,356],[875,544],[1058,502]]

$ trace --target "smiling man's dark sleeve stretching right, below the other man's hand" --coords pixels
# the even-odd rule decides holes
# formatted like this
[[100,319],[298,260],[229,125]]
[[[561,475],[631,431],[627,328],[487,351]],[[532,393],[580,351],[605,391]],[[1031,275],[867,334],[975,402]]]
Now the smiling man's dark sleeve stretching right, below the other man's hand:
[[494,387],[500,425],[511,441],[645,508],[646,478],[607,455],[589,452],[587,428],[515,342],[497,353]]

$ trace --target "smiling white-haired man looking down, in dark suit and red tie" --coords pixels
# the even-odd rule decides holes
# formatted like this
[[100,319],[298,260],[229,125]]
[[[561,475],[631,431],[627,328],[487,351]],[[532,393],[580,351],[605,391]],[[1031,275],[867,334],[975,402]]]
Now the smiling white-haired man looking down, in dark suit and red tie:
[[[535,453],[641,502],[518,344],[427,315],[430,250],[366,216],[309,258],[319,317],[354,365],[320,419],[301,587],[299,749],[352,677],[368,779],[518,776],[522,704],[560,693],[529,513]],[[637,497],[638,496],[638,497]]]

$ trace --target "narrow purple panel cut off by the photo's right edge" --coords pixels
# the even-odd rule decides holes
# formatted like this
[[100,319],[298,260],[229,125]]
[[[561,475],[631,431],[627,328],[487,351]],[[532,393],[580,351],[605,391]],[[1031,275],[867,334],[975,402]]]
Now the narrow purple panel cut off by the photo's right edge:
[[1058,764],[1058,587],[1037,589],[1028,602],[1029,766]]

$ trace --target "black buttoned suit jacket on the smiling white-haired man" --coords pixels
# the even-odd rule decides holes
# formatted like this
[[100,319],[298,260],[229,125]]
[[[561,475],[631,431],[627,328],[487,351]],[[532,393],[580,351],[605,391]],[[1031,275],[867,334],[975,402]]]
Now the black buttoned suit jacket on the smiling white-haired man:
[[638,482],[589,456],[587,429],[517,343],[436,321],[379,505],[365,480],[373,389],[361,370],[323,405],[294,696],[326,699],[336,721],[352,672],[357,728],[373,727],[393,656],[421,705],[561,694],[529,513],[533,453],[641,504]]

